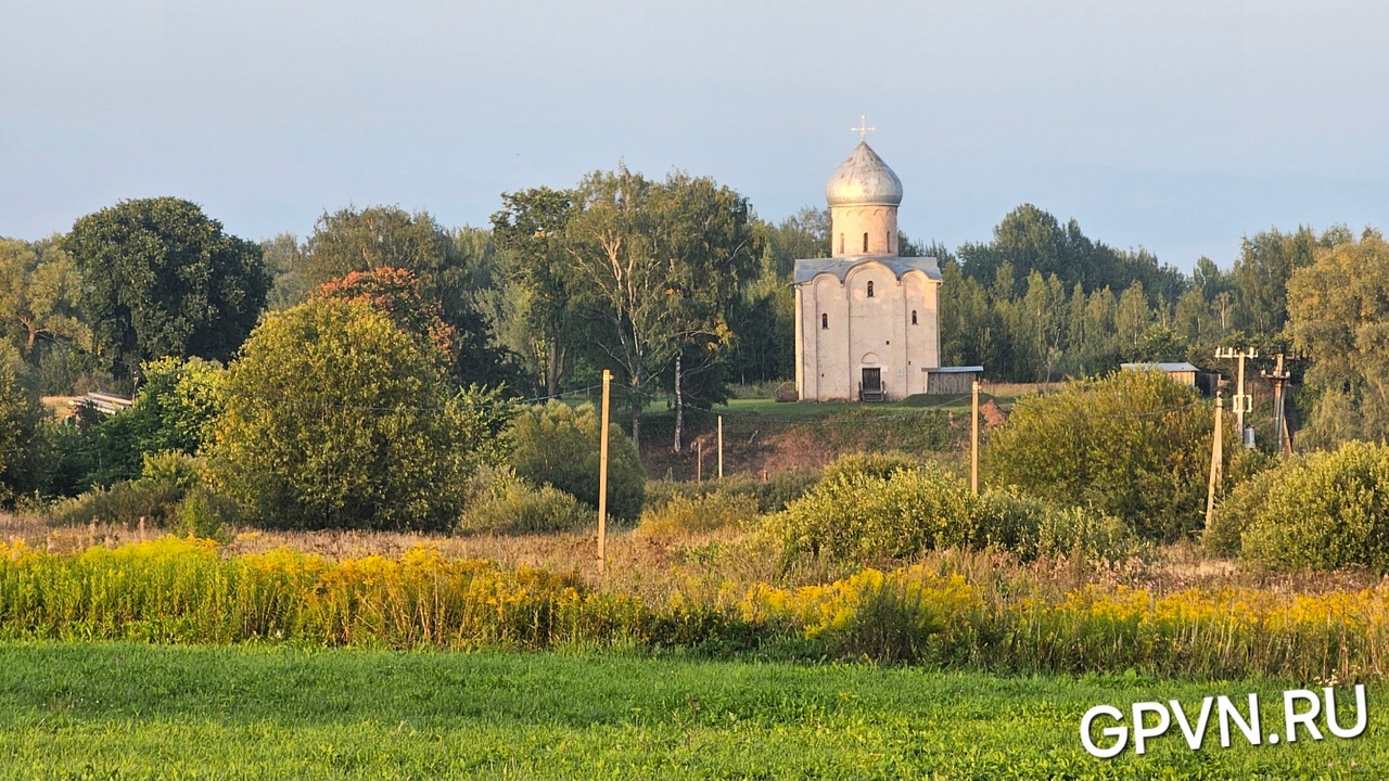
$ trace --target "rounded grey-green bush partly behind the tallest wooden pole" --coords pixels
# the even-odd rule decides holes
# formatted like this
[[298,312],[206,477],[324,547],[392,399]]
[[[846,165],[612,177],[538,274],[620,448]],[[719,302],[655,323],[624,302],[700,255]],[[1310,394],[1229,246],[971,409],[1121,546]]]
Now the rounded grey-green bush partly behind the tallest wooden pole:
[[[553,485],[594,510],[599,506],[599,428],[593,404],[532,407],[511,421],[511,467],[535,485]],[[646,500],[646,470],[636,446],[608,431],[608,517],[635,521]]]

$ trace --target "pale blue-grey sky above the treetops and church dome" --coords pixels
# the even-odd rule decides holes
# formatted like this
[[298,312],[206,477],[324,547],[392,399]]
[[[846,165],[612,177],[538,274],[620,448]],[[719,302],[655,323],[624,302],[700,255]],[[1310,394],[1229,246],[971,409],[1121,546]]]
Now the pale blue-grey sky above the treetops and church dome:
[[21,1],[0,6],[0,236],[178,196],[307,236],[396,204],[618,164],[779,221],[858,140],[900,227],[986,242],[1014,207],[1190,270],[1268,228],[1389,228],[1389,4]]

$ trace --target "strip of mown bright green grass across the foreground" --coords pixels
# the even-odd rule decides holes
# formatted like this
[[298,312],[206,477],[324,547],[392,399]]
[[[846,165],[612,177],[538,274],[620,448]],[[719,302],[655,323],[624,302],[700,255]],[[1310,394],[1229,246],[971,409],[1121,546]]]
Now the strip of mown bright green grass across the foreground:
[[[1297,682],[1311,687],[1311,681]],[[286,646],[0,645],[0,777],[1385,777],[1357,739],[1086,755],[1090,706],[1282,684]],[[1354,763],[1354,768],[1351,768]]]

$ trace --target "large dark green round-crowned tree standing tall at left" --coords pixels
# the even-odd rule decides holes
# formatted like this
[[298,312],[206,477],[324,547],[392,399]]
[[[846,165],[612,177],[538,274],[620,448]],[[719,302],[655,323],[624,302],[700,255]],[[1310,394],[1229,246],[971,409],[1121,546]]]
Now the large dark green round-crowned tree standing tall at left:
[[64,249],[82,272],[96,349],[118,374],[164,356],[229,359],[269,289],[260,245],[175,197],[89,214]]

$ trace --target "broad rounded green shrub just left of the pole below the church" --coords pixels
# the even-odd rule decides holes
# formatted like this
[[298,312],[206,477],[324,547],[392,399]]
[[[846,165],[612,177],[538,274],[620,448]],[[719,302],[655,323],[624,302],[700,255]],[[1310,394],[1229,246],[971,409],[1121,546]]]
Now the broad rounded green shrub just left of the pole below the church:
[[871,563],[971,542],[963,482],[938,471],[896,467],[881,477],[878,466],[826,470],[810,493],[775,516],[783,550]]

